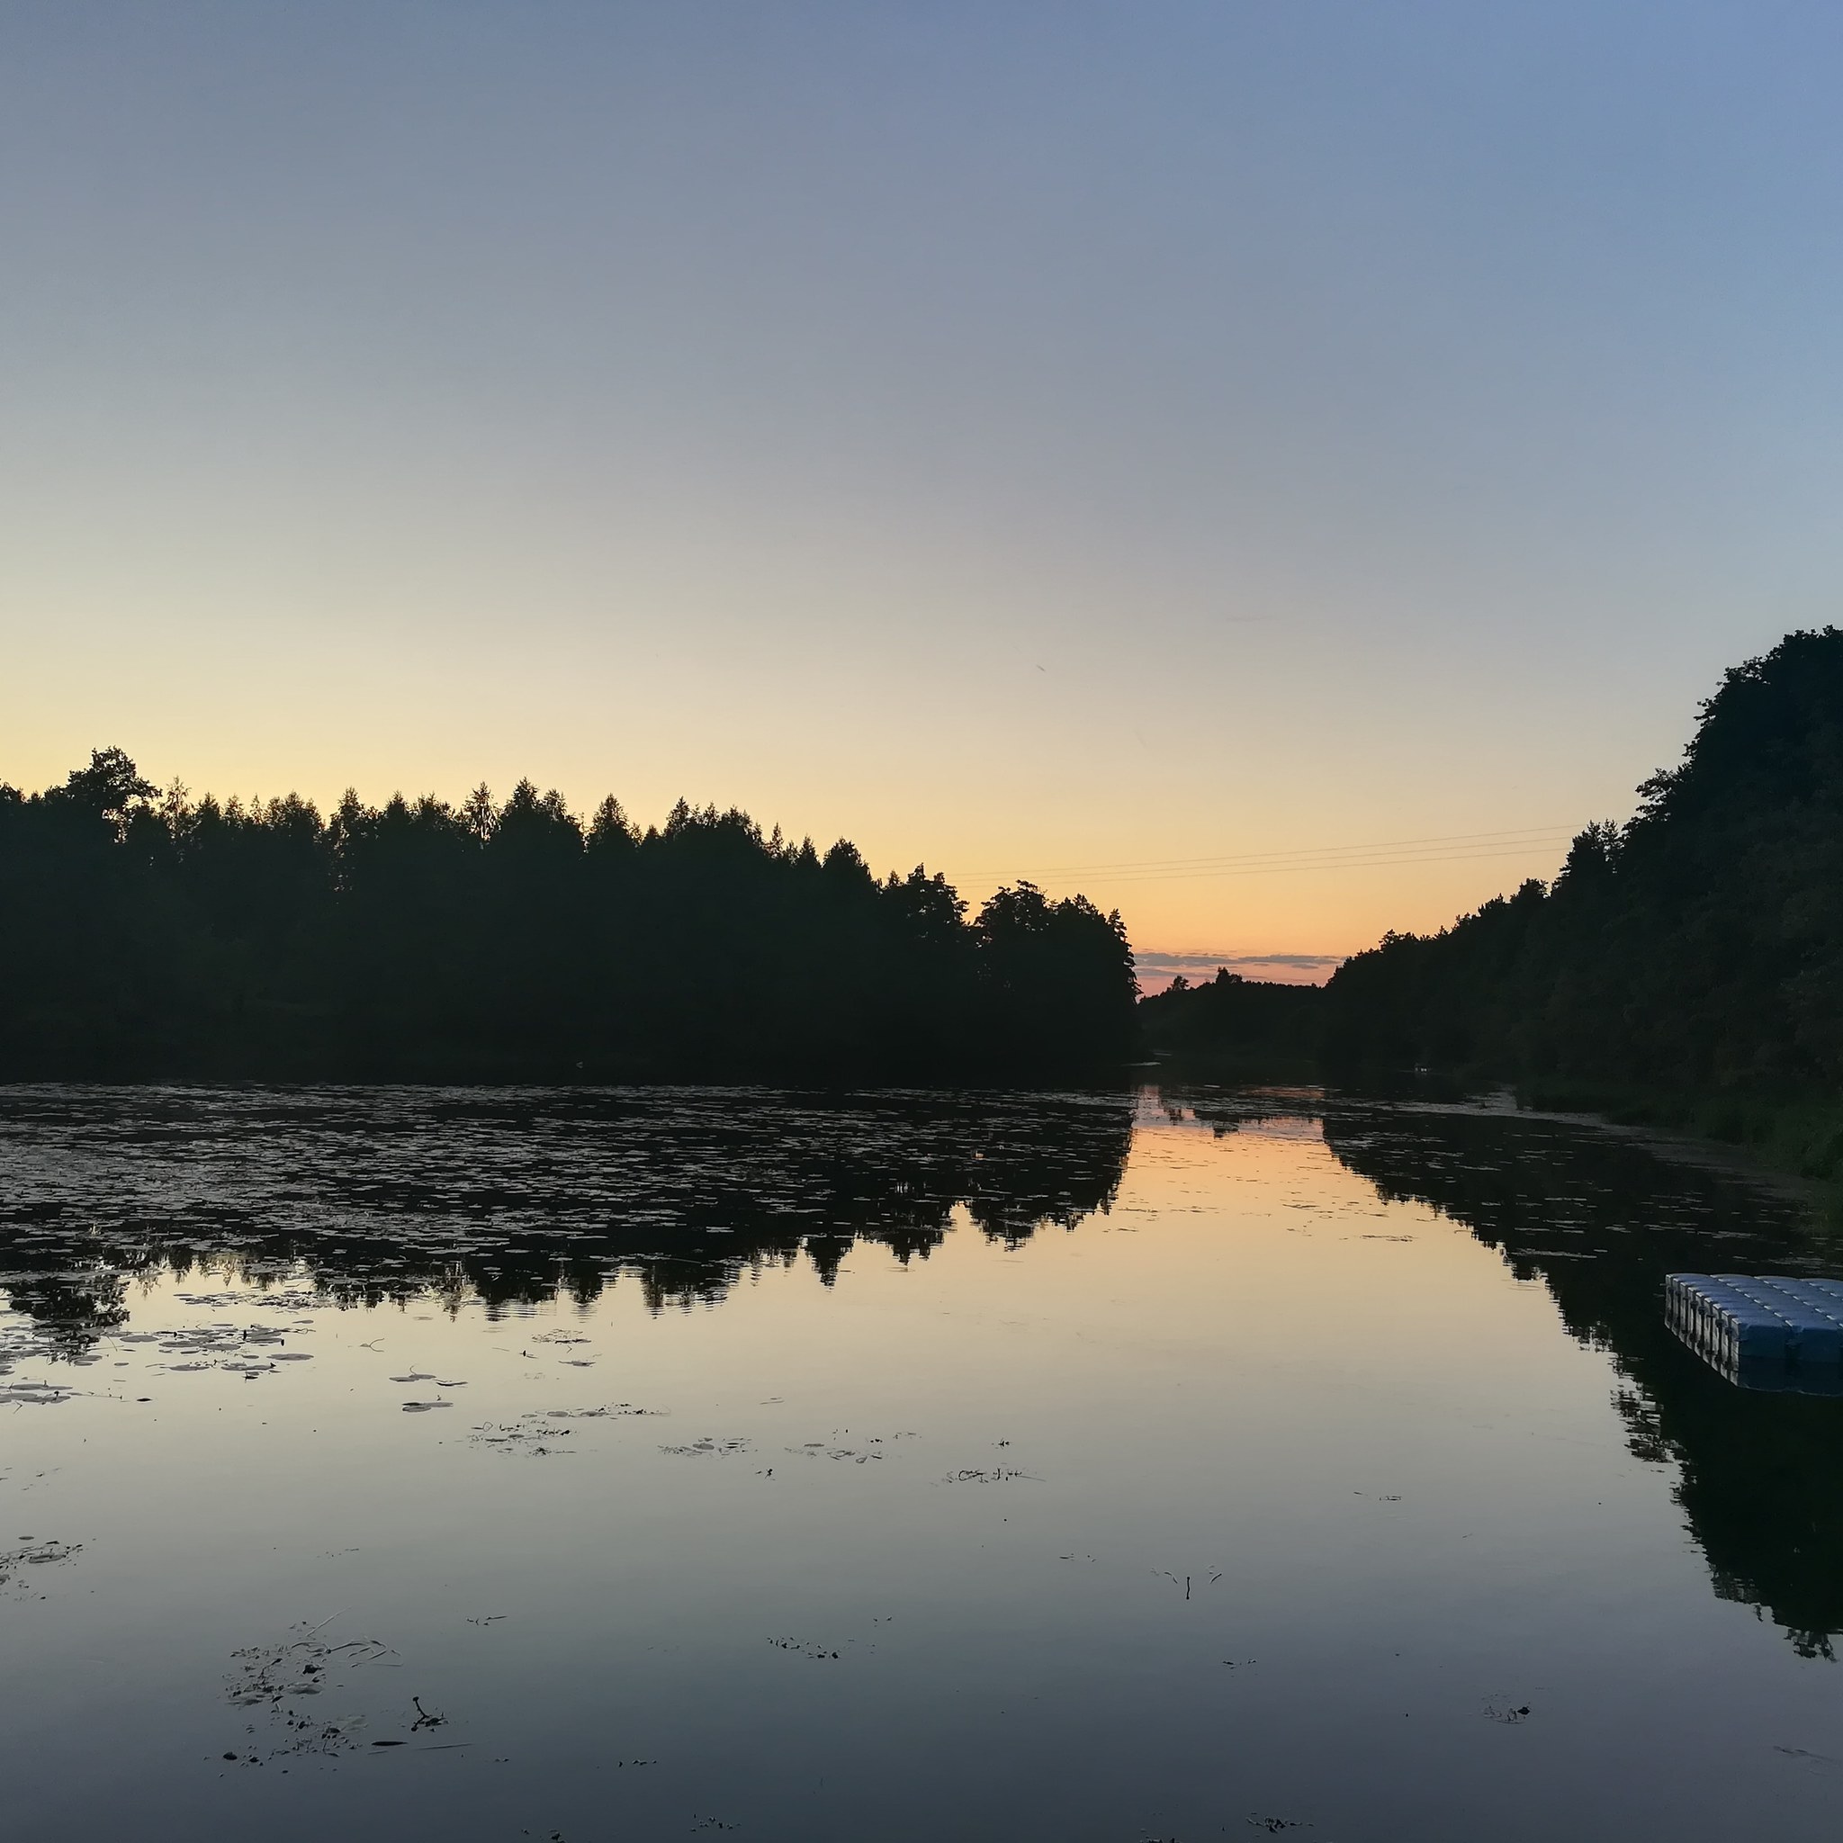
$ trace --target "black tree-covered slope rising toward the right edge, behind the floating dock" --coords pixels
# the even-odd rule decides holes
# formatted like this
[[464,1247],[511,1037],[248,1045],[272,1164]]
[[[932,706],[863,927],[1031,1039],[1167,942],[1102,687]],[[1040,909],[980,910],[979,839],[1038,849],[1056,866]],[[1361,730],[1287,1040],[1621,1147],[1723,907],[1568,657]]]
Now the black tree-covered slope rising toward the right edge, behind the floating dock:
[[[1452,1071],[1583,1100],[1784,1102],[1843,1087],[1843,632],[1732,667],[1624,826],[1432,934],[1390,933],[1321,993],[1227,977],[1146,1001],[1174,1052],[1275,1047],[1332,1073]],[[1814,1146],[1817,1167],[1843,1139]]]

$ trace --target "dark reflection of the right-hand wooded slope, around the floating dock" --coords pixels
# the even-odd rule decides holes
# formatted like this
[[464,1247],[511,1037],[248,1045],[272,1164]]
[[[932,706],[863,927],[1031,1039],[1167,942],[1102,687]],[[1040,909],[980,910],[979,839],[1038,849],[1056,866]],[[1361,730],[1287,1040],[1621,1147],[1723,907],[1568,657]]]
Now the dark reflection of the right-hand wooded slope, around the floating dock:
[[1332,1108],[1325,1139],[1384,1198],[1430,1203],[1543,1279],[1568,1331],[1618,1360],[1631,1450],[1677,1463],[1716,1592],[1828,1657],[1843,1633],[1843,1403],[1734,1388],[1672,1336],[1661,1297],[1672,1270],[1808,1261],[1793,1205],[1605,1133],[1502,1115]]

